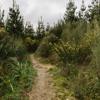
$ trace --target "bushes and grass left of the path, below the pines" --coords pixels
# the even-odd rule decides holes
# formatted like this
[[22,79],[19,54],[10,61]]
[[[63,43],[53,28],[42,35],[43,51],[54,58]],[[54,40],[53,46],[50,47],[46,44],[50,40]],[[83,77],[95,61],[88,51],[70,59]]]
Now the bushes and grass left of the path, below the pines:
[[0,100],[28,100],[35,76],[22,39],[0,28]]

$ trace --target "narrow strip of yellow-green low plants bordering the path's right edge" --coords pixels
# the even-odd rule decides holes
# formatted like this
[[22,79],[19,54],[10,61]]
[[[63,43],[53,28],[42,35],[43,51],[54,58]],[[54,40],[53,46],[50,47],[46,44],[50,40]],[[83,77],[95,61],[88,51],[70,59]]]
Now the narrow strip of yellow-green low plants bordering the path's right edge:
[[61,75],[61,69],[55,67],[50,70],[50,73],[53,74],[54,86],[57,90],[56,97],[58,97],[59,100],[76,100],[73,91],[69,91],[67,88],[68,80]]

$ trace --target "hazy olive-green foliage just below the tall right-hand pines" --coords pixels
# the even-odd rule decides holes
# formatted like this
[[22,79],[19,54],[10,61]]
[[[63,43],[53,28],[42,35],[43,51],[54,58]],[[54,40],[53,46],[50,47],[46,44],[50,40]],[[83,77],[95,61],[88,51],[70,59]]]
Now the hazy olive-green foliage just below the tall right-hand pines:
[[85,21],[78,21],[73,23],[67,23],[64,25],[64,29],[61,34],[61,39],[66,42],[74,42],[79,44],[84,34],[87,32],[87,23]]

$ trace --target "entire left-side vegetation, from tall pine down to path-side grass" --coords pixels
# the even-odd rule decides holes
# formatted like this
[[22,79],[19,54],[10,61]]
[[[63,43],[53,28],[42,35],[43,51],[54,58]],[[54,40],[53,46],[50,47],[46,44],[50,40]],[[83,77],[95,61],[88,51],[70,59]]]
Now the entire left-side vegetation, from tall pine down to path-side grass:
[[25,42],[25,32],[23,18],[15,1],[9,8],[6,22],[4,11],[0,10],[0,100],[29,99],[36,70]]

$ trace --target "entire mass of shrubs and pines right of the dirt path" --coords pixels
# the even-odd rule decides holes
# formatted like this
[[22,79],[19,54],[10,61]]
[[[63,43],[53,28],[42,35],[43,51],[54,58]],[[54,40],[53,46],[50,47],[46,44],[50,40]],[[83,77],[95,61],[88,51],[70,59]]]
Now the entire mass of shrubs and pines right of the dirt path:
[[43,38],[36,53],[57,67],[51,69],[60,100],[100,99],[100,3],[76,15],[69,1],[64,20]]

